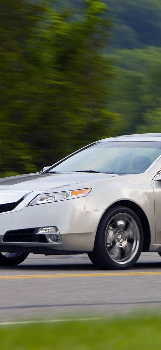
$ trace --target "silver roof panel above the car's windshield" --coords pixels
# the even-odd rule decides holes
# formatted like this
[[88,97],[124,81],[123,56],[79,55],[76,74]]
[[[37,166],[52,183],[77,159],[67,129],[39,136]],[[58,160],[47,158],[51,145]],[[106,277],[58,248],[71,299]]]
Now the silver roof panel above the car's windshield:
[[151,141],[161,142],[161,133],[149,133],[149,134],[133,134],[133,135],[122,135],[116,137],[109,137],[102,139],[100,142],[107,141]]

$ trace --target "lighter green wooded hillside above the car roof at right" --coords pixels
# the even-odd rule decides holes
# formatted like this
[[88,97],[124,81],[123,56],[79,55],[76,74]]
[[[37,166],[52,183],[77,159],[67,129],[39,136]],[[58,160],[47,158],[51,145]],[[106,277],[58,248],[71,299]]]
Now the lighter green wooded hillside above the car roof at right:
[[120,134],[161,132],[159,114],[153,124],[161,106],[161,48],[117,50],[115,59],[118,68],[111,85],[110,108],[124,120]]

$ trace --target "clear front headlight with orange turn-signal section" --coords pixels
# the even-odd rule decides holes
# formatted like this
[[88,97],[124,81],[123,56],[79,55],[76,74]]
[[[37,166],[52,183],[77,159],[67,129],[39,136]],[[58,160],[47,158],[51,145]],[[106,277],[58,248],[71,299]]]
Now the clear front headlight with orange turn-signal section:
[[56,193],[41,194],[34,198],[28,205],[36,205],[43,203],[53,203],[58,201],[65,201],[67,199],[85,197],[92,190],[92,188],[83,188],[75,191],[65,191]]

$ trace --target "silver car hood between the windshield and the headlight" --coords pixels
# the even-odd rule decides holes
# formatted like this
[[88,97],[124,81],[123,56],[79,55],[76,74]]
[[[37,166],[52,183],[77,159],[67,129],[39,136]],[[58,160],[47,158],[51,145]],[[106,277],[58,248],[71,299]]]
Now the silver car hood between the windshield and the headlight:
[[100,173],[44,173],[27,174],[0,179],[0,190],[47,191],[60,188],[83,188],[86,182],[114,177]]

